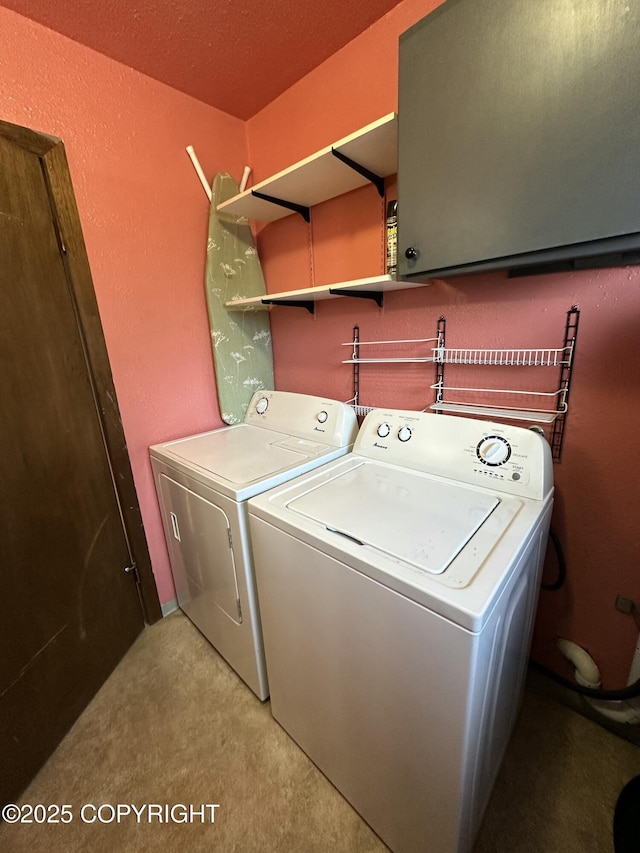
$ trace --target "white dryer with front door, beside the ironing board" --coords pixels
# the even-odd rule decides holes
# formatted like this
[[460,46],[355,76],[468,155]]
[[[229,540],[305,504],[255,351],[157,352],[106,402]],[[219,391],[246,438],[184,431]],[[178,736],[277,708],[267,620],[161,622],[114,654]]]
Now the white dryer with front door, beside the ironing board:
[[260,699],[269,695],[247,500],[344,455],[336,400],[259,391],[244,423],[150,448],[178,604]]

